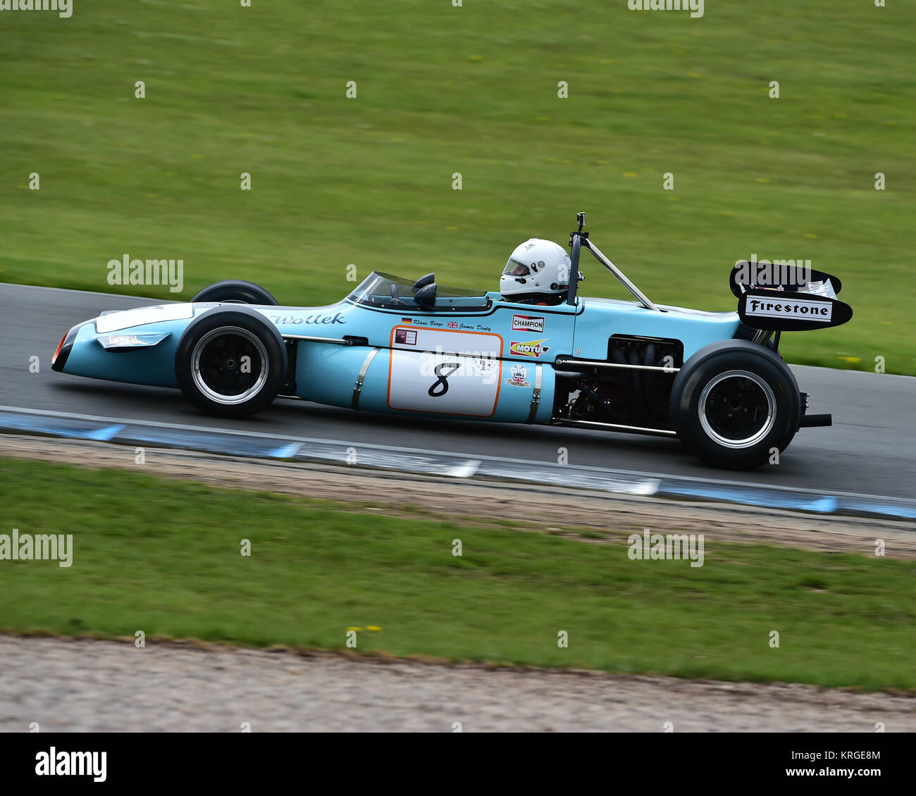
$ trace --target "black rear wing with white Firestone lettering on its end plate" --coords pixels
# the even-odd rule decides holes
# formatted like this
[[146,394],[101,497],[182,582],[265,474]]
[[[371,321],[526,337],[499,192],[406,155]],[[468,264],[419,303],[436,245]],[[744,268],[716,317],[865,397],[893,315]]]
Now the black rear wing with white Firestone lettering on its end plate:
[[738,317],[754,329],[803,332],[840,326],[853,317],[853,309],[838,300],[843,283],[831,274],[812,268],[762,267],[742,261],[732,268],[729,283],[738,299]]

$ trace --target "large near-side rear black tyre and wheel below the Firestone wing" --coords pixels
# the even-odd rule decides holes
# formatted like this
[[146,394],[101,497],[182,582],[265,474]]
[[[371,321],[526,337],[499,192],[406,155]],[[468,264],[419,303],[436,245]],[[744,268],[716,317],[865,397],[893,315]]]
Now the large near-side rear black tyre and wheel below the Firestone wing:
[[693,354],[671,386],[671,420],[687,448],[715,467],[767,463],[792,441],[802,415],[798,383],[777,354],[724,340]]

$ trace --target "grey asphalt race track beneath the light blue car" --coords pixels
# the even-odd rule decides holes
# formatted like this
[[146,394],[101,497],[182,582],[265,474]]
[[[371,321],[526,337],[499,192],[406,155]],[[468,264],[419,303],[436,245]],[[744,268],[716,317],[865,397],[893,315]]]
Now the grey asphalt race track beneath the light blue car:
[[[810,411],[832,412],[834,426],[799,431],[778,466],[733,474],[698,463],[674,440],[548,426],[401,419],[284,399],[248,420],[218,420],[193,409],[178,390],[51,370],[51,354],[74,323],[104,310],[155,303],[0,283],[0,405],[553,463],[558,449],[565,447],[569,463],[616,470],[913,497],[916,378],[910,376],[793,366],[799,387],[811,394]],[[37,374],[29,372],[31,356],[39,357]]]

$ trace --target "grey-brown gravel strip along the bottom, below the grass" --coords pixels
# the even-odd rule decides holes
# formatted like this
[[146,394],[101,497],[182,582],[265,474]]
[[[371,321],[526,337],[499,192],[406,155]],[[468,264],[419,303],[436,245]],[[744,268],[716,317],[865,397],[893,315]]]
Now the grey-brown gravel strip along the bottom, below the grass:
[[0,636],[0,730],[916,731],[916,695]]

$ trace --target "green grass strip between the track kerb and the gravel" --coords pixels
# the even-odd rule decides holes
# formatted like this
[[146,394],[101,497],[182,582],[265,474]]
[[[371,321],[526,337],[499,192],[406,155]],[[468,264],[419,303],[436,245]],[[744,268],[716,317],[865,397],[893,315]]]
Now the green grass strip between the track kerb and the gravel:
[[624,540],[523,522],[457,528],[13,459],[0,485],[0,533],[71,533],[74,547],[70,568],[0,561],[7,629],[343,649],[347,627],[376,625],[357,651],[916,687],[914,562],[727,544],[699,568],[633,562]]

